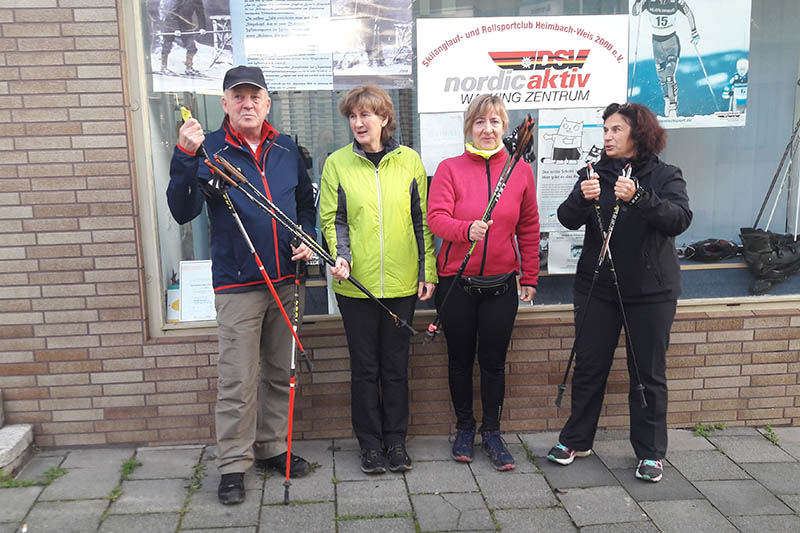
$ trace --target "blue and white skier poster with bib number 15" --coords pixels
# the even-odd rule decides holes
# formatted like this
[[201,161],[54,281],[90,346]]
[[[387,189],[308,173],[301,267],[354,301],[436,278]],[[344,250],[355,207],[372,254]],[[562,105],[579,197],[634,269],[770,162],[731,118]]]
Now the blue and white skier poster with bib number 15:
[[665,128],[744,126],[751,0],[628,1],[628,100]]

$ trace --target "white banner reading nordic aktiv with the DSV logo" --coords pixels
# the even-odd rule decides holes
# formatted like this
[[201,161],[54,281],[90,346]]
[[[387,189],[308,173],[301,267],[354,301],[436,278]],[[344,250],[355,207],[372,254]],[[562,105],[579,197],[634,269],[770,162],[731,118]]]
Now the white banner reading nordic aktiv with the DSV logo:
[[417,19],[420,113],[463,111],[482,93],[508,109],[625,101],[628,16]]

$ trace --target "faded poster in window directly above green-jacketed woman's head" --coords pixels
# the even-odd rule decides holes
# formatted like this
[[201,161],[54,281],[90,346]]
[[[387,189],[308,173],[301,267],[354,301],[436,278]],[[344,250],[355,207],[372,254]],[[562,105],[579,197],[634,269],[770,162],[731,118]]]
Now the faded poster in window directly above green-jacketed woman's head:
[[412,0],[332,0],[336,89],[413,84]]

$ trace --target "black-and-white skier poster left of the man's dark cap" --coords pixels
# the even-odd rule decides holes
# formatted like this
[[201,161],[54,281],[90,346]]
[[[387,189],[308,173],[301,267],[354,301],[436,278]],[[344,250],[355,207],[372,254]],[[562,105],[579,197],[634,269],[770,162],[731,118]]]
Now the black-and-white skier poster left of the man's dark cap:
[[233,65],[228,0],[148,0],[153,91],[219,94]]

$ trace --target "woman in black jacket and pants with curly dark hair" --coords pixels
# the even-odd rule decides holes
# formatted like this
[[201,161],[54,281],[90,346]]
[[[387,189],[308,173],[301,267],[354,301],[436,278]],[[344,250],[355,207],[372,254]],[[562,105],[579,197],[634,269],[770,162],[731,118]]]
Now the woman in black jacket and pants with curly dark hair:
[[[681,290],[675,236],[689,227],[692,212],[681,170],[657,156],[666,132],[649,109],[611,104],[603,112],[603,132],[600,161],[591,174],[591,167],[578,172],[578,182],[558,208],[565,227],[586,227],[574,288],[576,326],[578,320],[586,325],[575,346],[572,411],[548,459],[568,465],[591,453],[624,306],[630,328],[628,403],[630,440],[639,459],[636,477],[656,482],[667,453],[666,352]],[[592,286],[615,211],[610,254]]]

